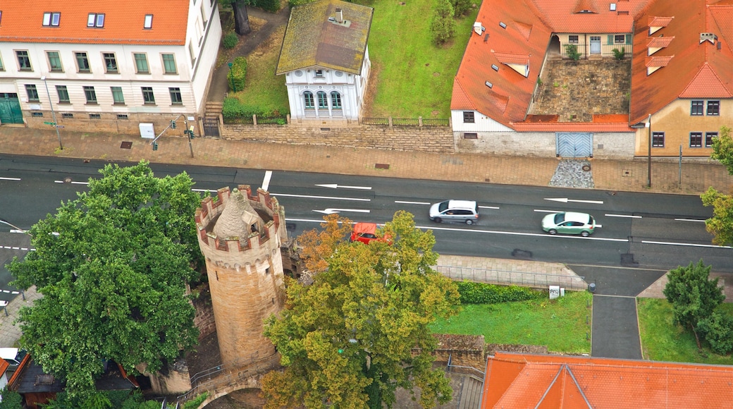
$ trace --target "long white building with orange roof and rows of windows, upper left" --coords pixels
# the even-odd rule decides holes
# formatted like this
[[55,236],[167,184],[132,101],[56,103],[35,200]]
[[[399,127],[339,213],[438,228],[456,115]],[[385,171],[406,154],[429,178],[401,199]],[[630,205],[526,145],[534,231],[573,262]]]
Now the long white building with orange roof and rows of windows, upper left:
[[221,38],[216,0],[12,1],[0,12],[3,124],[158,132],[203,111]]

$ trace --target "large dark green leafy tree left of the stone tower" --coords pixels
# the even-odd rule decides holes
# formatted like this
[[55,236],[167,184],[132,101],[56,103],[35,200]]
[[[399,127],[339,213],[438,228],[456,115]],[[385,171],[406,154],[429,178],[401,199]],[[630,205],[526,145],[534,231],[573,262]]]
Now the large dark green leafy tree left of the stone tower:
[[100,173],[32,226],[35,251],[9,265],[13,284],[43,294],[19,313],[21,345],[75,402],[92,396],[104,361],[155,371],[198,336],[186,295],[200,257],[191,178],[156,178],[145,162]]

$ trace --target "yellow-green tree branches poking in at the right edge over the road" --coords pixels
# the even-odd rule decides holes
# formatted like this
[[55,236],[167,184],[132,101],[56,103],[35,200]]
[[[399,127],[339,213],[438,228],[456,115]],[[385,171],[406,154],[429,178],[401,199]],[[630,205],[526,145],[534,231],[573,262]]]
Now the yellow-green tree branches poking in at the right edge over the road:
[[[712,139],[710,158],[723,163],[728,169],[728,173],[733,174],[731,128],[721,127],[718,138]],[[733,196],[723,194],[710,187],[700,198],[702,204],[712,206],[712,218],[705,221],[705,228],[713,235],[712,243],[720,246],[733,245]]]

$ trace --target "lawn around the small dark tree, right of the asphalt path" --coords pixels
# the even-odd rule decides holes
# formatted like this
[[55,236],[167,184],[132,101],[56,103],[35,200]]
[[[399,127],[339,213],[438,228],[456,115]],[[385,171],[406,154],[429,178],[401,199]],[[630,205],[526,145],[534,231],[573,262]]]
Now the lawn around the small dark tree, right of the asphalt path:
[[[644,351],[645,359],[733,365],[730,355],[715,355],[707,347],[699,351],[695,336],[672,323],[672,306],[666,300],[639,298],[637,306],[641,350]],[[732,303],[723,303],[718,308],[733,314]]]

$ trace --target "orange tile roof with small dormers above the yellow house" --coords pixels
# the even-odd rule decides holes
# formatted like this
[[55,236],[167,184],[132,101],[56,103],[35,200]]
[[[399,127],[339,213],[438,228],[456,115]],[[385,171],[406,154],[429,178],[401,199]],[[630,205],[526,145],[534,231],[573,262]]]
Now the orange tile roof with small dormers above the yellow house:
[[[733,95],[732,5],[730,0],[649,1],[634,23],[630,123],[643,122],[677,98]],[[649,58],[652,25],[664,26],[652,37],[674,40]],[[721,49],[701,43],[704,32],[723,40]],[[647,75],[647,67],[660,68]]]

